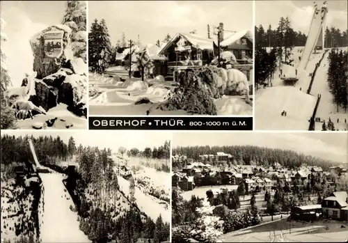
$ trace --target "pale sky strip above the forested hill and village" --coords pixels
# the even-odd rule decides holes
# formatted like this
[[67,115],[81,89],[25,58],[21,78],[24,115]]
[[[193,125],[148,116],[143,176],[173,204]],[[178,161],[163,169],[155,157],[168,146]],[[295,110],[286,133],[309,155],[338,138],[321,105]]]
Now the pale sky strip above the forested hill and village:
[[177,146],[250,145],[303,152],[306,155],[347,163],[347,132],[175,132]]

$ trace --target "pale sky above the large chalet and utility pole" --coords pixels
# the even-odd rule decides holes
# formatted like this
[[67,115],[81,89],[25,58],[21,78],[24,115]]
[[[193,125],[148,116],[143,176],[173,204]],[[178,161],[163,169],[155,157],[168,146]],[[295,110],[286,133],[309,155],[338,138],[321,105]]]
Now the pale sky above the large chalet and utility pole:
[[226,30],[253,29],[253,1],[88,1],[88,22],[106,20],[111,42],[125,32],[143,44],[163,40],[167,33],[189,33],[196,29],[207,36],[207,24]]

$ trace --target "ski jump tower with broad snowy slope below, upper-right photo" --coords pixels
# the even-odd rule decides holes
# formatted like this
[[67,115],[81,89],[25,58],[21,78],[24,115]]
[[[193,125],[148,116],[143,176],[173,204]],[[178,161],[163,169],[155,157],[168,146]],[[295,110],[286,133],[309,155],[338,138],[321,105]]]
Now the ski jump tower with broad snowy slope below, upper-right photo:
[[[255,126],[258,130],[308,130],[308,122],[313,116],[317,104],[317,95],[306,93],[310,86],[310,72],[315,70],[324,51],[324,28],[326,2],[318,8],[315,3],[306,46],[295,47],[301,53],[294,58],[294,66],[282,64],[274,73],[272,87],[264,88],[255,94]],[[313,52],[314,51],[314,52]],[[294,56],[297,53],[294,53]],[[298,54],[297,54],[298,55]],[[287,80],[296,81],[293,86],[286,85]],[[281,116],[283,111],[287,116]]]

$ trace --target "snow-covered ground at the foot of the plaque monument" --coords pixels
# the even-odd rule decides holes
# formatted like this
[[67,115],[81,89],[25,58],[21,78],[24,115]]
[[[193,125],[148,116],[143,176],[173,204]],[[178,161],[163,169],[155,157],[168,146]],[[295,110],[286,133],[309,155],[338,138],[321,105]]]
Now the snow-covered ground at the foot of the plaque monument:
[[[87,129],[87,119],[74,115],[68,111],[66,104],[58,104],[58,106],[49,109],[47,114],[38,114],[33,119],[18,120],[16,125],[19,129],[46,129],[46,130],[65,130],[65,129]],[[47,120],[55,119],[52,127],[45,125]]]

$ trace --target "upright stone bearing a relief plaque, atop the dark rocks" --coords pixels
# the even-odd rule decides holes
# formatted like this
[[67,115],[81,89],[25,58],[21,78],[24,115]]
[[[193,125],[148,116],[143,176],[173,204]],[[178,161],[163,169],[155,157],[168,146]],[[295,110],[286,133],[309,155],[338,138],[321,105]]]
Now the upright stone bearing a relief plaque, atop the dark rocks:
[[31,49],[34,54],[33,70],[38,72],[37,78],[52,75],[61,68],[61,63],[69,59],[66,56],[71,49],[72,29],[63,24],[49,26],[31,38]]

